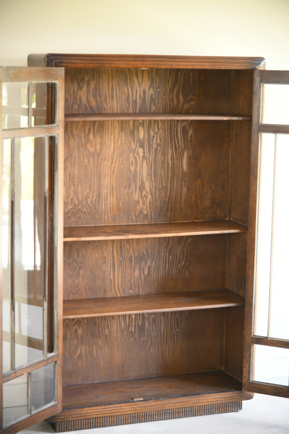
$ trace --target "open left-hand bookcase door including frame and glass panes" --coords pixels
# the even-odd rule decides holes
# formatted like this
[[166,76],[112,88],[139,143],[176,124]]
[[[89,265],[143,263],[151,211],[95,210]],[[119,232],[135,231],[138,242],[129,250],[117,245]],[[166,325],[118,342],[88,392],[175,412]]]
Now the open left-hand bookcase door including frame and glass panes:
[[61,410],[63,78],[0,68],[5,433]]

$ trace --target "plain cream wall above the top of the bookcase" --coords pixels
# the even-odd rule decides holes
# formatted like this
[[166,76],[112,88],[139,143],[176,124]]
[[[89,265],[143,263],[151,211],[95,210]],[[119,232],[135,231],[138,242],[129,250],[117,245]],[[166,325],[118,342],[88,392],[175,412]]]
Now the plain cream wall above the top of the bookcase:
[[289,1],[0,0],[0,65],[48,52],[263,56],[289,70]]

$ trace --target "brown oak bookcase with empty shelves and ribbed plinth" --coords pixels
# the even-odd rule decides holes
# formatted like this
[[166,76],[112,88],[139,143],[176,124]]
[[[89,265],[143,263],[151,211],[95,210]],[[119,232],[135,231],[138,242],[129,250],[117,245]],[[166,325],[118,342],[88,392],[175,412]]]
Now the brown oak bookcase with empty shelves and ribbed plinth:
[[[262,85],[289,73],[264,71],[260,57],[32,54],[28,64],[65,69],[59,406],[42,418],[67,431],[236,411],[253,392],[288,397],[250,368],[254,345],[289,348],[252,331],[259,136],[289,133],[262,124]],[[61,229],[58,242],[62,261]]]

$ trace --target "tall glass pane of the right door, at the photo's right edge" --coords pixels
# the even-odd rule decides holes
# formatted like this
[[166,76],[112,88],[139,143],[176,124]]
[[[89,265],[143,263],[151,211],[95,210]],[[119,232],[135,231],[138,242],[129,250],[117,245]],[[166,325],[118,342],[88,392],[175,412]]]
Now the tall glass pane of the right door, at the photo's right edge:
[[275,158],[269,337],[289,340],[289,135],[277,135]]

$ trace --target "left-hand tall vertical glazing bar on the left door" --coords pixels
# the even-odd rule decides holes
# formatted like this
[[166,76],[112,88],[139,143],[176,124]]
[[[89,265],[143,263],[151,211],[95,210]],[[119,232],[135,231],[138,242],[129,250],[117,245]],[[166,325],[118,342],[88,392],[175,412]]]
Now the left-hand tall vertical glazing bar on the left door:
[[15,370],[15,139],[11,139],[11,369]]

